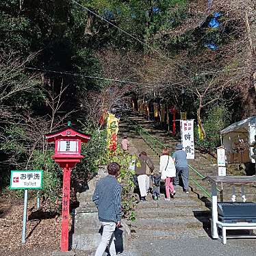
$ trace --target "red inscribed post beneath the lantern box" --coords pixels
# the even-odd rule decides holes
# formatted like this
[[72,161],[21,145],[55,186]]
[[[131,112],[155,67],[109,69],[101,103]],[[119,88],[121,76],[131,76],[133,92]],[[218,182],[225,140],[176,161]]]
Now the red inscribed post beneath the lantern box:
[[63,188],[62,188],[62,240],[60,250],[68,251],[68,218],[69,200],[71,195],[71,168],[63,168]]

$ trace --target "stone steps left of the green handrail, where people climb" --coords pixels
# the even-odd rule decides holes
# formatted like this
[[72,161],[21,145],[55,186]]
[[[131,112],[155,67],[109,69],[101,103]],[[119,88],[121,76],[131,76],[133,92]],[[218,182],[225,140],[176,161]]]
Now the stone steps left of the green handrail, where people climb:
[[[143,125],[144,127],[144,125]],[[157,132],[156,132],[157,133]],[[151,157],[155,168],[159,168],[159,155],[144,142],[136,131],[131,129],[124,120],[120,122],[120,136],[127,135],[131,153],[146,151]],[[173,140],[173,145],[177,143]],[[164,201],[164,184],[161,185],[161,196],[159,201],[153,201],[151,194],[147,196],[146,202],[139,202],[136,207],[136,220],[127,221],[131,229],[131,242],[129,251],[122,255],[151,255],[140,251],[139,242],[151,240],[153,246],[157,246],[159,240],[170,240],[179,238],[201,238],[207,237],[209,233],[209,208],[198,199],[194,192],[185,194],[181,187],[176,186],[175,199]],[[139,199],[139,198],[138,198]],[[128,254],[127,254],[128,253]]]

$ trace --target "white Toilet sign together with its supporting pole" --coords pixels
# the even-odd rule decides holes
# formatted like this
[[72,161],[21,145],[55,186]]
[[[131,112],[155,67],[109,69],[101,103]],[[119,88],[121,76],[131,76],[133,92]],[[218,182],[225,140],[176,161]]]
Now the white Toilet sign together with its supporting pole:
[[24,191],[22,242],[26,240],[28,190],[42,188],[42,170],[12,170],[10,189]]

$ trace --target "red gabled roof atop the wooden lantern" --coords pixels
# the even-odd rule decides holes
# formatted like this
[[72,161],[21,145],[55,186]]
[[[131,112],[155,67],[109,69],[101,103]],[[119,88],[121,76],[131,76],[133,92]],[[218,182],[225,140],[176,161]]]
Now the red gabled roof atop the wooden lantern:
[[88,142],[88,140],[90,140],[89,134],[81,133],[80,131],[71,128],[70,124],[68,124],[68,127],[45,134],[45,137],[47,138],[48,142],[54,142],[55,140],[60,140],[64,138],[79,139],[81,140],[81,142]]

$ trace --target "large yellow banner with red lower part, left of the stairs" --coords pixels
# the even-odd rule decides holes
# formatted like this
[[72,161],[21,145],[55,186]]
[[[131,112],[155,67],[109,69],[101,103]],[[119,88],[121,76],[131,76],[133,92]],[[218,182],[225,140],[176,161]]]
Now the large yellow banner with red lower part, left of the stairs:
[[118,124],[119,118],[109,113],[107,118],[107,149],[110,151],[116,151]]

